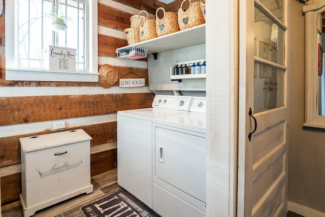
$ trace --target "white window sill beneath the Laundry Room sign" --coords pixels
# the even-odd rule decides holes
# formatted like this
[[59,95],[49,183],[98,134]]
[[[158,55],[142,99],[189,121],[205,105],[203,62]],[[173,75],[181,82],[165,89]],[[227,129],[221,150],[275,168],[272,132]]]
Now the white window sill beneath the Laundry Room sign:
[[6,69],[7,81],[98,82],[99,73]]

